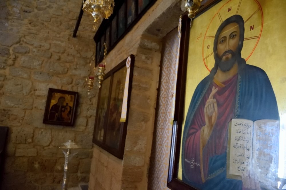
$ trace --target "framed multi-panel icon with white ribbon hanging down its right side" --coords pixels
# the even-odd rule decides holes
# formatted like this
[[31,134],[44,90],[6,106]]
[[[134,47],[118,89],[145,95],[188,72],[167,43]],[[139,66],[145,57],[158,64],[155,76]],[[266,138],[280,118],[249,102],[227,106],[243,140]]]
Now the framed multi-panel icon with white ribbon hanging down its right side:
[[99,91],[93,142],[122,159],[134,56],[123,60],[106,73]]

